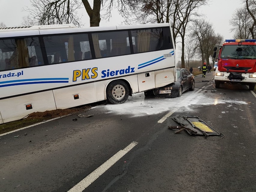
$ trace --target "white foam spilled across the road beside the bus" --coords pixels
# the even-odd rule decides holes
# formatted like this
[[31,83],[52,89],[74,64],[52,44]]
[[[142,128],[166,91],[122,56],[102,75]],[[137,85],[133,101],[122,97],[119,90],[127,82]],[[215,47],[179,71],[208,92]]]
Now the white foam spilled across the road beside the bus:
[[121,105],[104,105],[107,113],[130,114],[133,117],[153,115],[172,110],[192,111],[191,105],[218,105],[221,103],[246,105],[244,101],[215,99],[206,97],[203,93],[186,92],[181,97],[175,98],[148,98],[144,93],[133,94],[132,97]]

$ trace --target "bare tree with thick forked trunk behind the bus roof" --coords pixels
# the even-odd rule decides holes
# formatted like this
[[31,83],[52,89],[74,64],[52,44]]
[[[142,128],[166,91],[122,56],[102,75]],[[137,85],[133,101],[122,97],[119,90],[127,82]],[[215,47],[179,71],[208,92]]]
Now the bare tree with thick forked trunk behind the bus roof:
[[90,17],[90,26],[99,26],[100,11],[106,11],[103,18],[110,18],[113,6],[124,16],[128,13],[127,7],[137,5],[137,0],[93,0],[93,6],[88,0],[30,0],[33,9],[23,9],[31,12],[32,18],[40,25],[73,23],[81,26],[81,17],[78,16],[78,9],[84,6]]

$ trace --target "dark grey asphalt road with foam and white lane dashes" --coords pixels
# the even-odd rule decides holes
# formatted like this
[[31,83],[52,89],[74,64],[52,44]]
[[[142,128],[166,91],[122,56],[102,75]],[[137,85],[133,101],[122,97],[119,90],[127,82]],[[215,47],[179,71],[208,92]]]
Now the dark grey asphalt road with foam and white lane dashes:
[[[121,105],[99,103],[88,118],[0,136],[0,191],[256,191],[256,98],[242,85],[211,92],[214,83],[201,81],[213,75],[195,77],[208,90],[171,99],[138,93]],[[177,115],[199,116],[224,137],[174,134]]]

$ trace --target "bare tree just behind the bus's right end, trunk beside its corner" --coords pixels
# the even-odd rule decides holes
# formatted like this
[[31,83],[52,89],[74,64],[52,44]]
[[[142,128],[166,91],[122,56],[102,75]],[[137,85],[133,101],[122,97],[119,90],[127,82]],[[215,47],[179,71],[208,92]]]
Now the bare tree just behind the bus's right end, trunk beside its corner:
[[[171,23],[174,43],[181,37],[181,63],[184,67],[184,38],[187,24],[195,16],[198,8],[207,3],[206,0],[140,0],[134,14],[137,23]],[[132,20],[133,21],[133,20]],[[130,23],[130,20],[126,20]]]

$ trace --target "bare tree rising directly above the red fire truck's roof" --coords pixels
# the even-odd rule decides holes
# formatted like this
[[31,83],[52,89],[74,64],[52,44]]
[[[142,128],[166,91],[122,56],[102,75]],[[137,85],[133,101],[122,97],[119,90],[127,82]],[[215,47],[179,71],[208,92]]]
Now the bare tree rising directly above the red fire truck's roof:
[[246,7],[237,8],[229,23],[232,26],[230,32],[234,32],[235,39],[251,38],[250,28],[253,26],[254,21]]

